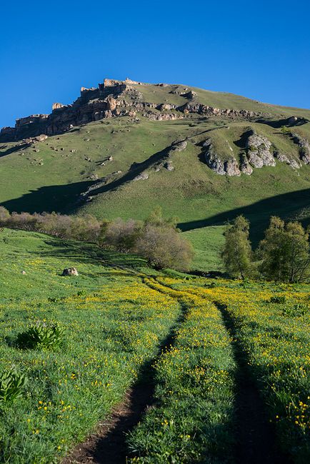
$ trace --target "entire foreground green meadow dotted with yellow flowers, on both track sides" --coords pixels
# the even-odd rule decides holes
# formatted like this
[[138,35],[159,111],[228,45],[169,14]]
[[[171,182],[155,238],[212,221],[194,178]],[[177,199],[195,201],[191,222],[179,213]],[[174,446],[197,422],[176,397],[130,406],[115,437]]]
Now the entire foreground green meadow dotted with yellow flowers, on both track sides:
[[[79,276],[61,276],[69,266]],[[0,400],[0,462],[61,462],[151,364],[154,402],[128,430],[128,459],[239,462],[236,342],[277,449],[307,462],[309,285],[159,273],[91,243],[6,229],[0,281],[0,378],[21,379],[15,400]],[[21,347],[38,323],[57,324],[61,338]]]

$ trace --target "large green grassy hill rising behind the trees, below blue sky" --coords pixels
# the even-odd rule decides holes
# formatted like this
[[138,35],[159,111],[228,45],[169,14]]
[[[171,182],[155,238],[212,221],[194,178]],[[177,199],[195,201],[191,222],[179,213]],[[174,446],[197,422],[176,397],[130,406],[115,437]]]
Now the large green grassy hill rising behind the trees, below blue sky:
[[[82,94],[81,104],[98,102],[96,91],[89,94]],[[244,213],[251,220],[254,242],[272,214],[309,222],[310,166],[301,163],[294,169],[276,160],[275,167],[254,168],[251,176],[220,176],[207,166],[203,147],[208,138],[221,161],[234,157],[241,163],[247,150],[246,134],[254,131],[270,141],[272,150],[300,163],[301,147],[291,133],[310,140],[309,110],[186,86],[149,84],[130,84],[121,105],[131,108],[137,98],[153,107],[138,108],[135,116],[112,115],[79,124],[41,142],[29,144],[21,138],[44,131],[36,123],[24,126],[17,140],[0,138],[0,204],[10,211],[69,211],[99,218],[145,218],[160,205],[164,215],[179,217],[180,228],[194,243],[196,268],[219,268],[222,226],[236,214]],[[78,106],[79,99],[76,102]],[[177,108],[205,105],[254,115],[184,113],[155,107],[161,104]],[[163,114],[174,119],[152,119]],[[291,116],[304,121],[290,126]],[[173,143],[184,140],[186,149],[171,153]],[[112,161],[107,161],[110,157]],[[173,171],[162,166],[167,159]],[[134,180],[141,173],[149,177]]]

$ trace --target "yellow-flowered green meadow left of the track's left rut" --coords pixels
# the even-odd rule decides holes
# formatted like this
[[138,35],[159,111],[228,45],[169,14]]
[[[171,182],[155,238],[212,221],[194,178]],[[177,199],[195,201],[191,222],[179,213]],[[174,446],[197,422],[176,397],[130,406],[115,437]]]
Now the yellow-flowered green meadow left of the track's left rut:
[[[176,301],[136,276],[87,260],[95,247],[83,251],[75,243],[84,253],[79,278],[61,277],[68,258],[52,248],[60,241],[49,239],[47,246],[46,238],[14,231],[0,236],[1,369],[28,379],[21,398],[1,404],[1,462],[58,461],[121,401],[179,315]],[[16,241],[27,251],[19,253]],[[64,329],[59,347],[19,348],[19,334],[38,321]]]

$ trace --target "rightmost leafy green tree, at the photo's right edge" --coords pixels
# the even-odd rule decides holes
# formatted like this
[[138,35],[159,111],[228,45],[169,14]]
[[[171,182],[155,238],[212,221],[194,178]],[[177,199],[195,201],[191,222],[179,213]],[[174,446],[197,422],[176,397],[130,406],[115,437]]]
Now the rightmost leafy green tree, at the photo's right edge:
[[271,217],[259,244],[261,273],[274,281],[301,282],[309,278],[309,231],[301,223]]

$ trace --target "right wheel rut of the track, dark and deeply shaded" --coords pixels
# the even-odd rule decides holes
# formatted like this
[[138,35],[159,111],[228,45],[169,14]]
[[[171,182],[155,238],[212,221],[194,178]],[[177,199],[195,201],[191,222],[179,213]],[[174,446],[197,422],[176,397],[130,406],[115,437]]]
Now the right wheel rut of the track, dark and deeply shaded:
[[237,464],[289,464],[291,460],[276,447],[274,428],[266,419],[261,400],[249,372],[249,357],[236,338],[234,320],[224,306],[217,305],[226,330],[233,338],[236,375],[236,450]]

